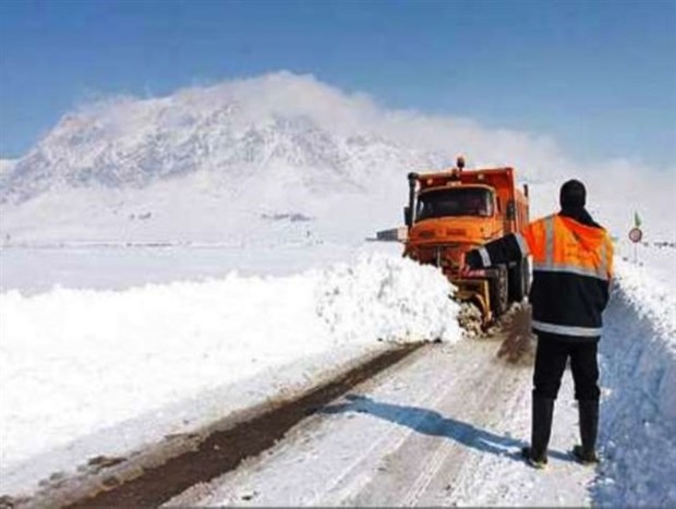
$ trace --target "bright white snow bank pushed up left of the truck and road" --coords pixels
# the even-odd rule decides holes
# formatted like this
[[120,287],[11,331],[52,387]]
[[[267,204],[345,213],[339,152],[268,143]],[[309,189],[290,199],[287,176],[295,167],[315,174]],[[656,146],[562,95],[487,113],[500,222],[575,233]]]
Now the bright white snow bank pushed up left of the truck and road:
[[372,254],[291,277],[1,293],[1,470],[300,357],[457,340],[450,290],[433,268]]

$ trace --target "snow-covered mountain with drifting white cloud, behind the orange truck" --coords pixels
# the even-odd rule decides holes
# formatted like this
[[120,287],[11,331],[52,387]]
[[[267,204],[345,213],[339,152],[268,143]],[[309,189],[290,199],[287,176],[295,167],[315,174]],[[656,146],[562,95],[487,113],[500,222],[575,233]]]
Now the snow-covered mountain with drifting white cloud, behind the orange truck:
[[[640,211],[666,182],[627,161],[579,166],[543,136],[388,110],[281,72],[67,114],[25,157],[0,166],[0,238],[363,239],[401,220],[409,171],[450,165],[458,153],[470,165],[517,167],[536,197],[533,216],[556,207],[557,187],[571,177],[588,183],[601,222],[632,217],[617,209],[618,194]],[[671,204],[657,201],[659,218]],[[290,219],[298,217],[310,220]]]

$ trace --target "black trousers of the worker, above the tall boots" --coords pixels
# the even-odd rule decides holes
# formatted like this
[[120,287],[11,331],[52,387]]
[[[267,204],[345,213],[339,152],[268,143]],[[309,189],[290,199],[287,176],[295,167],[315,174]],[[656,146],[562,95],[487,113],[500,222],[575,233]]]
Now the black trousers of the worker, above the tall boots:
[[575,383],[575,399],[597,401],[599,363],[597,340],[572,340],[555,335],[539,334],[533,374],[533,396],[556,399],[570,357],[570,371]]

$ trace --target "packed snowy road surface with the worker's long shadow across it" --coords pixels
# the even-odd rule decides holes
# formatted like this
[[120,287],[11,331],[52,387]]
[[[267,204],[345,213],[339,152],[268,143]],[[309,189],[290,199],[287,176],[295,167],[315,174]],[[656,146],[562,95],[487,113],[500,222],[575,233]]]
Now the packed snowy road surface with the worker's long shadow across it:
[[531,368],[498,357],[506,338],[423,349],[168,505],[588,505],[594,470],[566,453],[576,440],[568,383],[551,468],[520,460]]

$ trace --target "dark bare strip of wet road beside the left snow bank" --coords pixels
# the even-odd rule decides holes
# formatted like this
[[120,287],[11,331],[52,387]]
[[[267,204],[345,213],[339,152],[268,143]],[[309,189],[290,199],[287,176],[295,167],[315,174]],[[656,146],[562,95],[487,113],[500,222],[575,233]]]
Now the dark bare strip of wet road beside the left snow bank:
[[193,485],[236,469],[243,459],[269,449],[313,409],[387,369],[422,346],[409,343],[386,350],[336,375],[329,381],[298,395],[293,400],[278,401],[265,411],[252,409],[253,414],[246,421],[226,423],[225,428],[216,425],[216,428],[206,431],[204,436],[201,433],[186,436],[188,450],[179,453],[169,449],[150,450],[143,463],[116,463],[112,468],[119,468],[119,472],[116,475],[108,474],[101,484],[77,482],[57,486],[52,490],[39,493],[33,499],[22,500],[22,504],[32,507],[160,505]]

